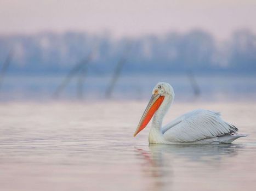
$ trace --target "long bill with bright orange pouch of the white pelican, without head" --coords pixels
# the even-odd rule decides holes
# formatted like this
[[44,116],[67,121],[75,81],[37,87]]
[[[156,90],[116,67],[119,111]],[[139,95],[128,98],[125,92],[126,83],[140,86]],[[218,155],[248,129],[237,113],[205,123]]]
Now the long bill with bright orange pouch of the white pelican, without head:
[[147,107],[143,113],[143,116],[140,119],[138,127],[133,136],[136,136],[141,130],[143,130],[147,126],[147,123],[150,122],[151,118],[162,104],[163,99],[164,96],[158,94],[158,91],[156,91],[155,94],[153,94],[149,101],[149,104],[147,104]]

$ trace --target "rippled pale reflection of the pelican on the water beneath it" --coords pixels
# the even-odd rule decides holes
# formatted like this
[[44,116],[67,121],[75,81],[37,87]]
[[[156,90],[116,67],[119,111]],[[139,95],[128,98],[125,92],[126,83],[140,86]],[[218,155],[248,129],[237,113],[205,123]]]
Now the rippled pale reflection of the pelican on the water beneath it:
[[193,175],[195,171],[208,174],[209,169],[225,169],[229,166],[230,157],[237,156],[241,148],[241,144],[149,144],[149,151],[135,147],[135,152],[141,160],[141,171],[144,176],[151,177],[148,189],[170,190],[177,176],[181,176],[178,177],[180,180],[179,178]]

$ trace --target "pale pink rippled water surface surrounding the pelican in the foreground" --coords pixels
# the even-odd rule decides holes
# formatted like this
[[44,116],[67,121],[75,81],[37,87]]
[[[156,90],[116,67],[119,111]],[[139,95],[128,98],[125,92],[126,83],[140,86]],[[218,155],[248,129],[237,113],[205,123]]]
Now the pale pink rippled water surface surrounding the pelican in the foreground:
[[133,138],[146,102],[1,103],[0,190],[255,190],[256,103],[174,104],[164,122],[221,111],[249,134],[227,145]]

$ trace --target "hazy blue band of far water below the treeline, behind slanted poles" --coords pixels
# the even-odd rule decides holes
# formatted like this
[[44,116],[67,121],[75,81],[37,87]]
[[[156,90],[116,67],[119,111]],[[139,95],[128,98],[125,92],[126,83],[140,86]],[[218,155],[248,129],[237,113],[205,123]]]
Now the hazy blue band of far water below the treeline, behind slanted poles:
[[[79,75],[66,81],[65,75],[7,75],[0,83],[0,102],[10,100],[102,100],[110,86],[111,75]],[[82,83],[81,83],[82,81]],[[237,74],[133,74],[121,75],[115,83],[111,98],[118,100],[147,100],[157,82],[173,86],[175,102],[256,102],[256,75]],[[58,97],[56,91],[64,83]],[[195,84],[198,95],[195,94]]]

